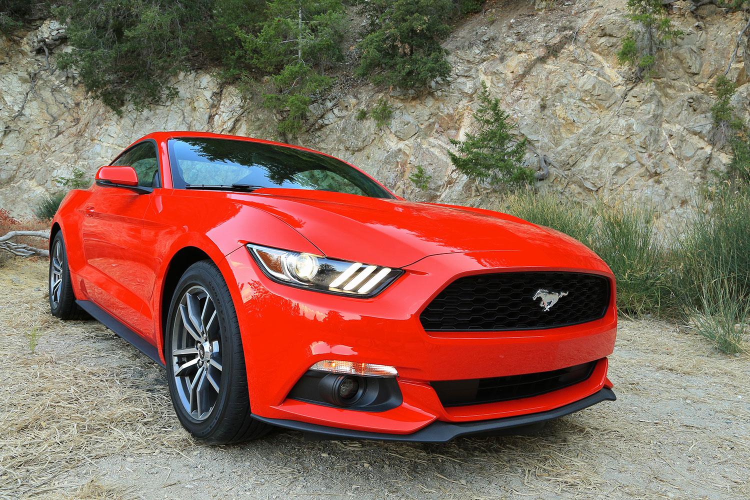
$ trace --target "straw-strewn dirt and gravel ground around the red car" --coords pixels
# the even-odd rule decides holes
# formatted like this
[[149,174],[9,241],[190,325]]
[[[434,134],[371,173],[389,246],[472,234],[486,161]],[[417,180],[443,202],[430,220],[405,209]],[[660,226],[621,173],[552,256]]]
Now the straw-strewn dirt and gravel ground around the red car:
[[179,426],[160,367],[49,315],[45,280],[43,262],[0,268],[0,498],[750,498],[750,359],[676,325],[622,320],[619,400],[534,436],[208,447]]

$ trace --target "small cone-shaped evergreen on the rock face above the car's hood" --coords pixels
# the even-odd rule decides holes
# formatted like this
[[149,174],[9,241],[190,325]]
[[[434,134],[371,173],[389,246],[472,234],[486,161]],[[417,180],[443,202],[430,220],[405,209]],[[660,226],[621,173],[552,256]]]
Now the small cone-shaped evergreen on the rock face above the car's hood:
[[480,106],[474,113],[479,131],[467,133],[466,139],[451,139],[457,153],[449,151],[452,163],[459,172],[477,181],[487,181],[493,186],[520,187],[535,180],[532,169],[523,166],[526,139],[516,140],[511,135],[515,125],[508,113],[500,108],[499,99],[490,97],[487,85],[482,82],[479,92]]

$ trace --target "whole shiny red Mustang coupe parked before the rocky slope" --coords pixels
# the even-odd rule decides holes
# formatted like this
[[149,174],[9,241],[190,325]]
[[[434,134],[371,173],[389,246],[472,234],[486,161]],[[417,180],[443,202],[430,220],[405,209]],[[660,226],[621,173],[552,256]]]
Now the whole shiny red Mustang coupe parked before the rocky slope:
[[591,250],[407,202],[317,151],[151,133],[66,196],[50,236],[52,314],[165,365],[204,442],[446,442],[615,399],[615,282]]

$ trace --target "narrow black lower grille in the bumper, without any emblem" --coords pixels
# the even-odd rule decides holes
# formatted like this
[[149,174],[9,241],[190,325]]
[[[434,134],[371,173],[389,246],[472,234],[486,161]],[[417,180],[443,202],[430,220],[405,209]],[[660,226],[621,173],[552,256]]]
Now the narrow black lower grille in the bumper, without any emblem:
[[443,406],[468,406],[520,400],[558,391],[591,376],[596,361],[541,373],[526,373],[493,379],[445,380],[432,382]]

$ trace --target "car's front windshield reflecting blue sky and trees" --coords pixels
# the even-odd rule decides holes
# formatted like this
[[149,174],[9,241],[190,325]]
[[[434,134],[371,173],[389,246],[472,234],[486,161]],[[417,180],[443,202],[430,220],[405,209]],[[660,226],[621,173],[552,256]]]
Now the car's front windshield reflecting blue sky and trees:
[[176,189],[285,187],[393,198],[380,184],[341,160],[263,142],[170,139],[169,163]]

